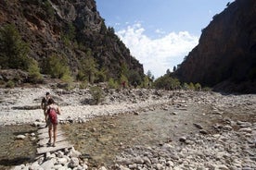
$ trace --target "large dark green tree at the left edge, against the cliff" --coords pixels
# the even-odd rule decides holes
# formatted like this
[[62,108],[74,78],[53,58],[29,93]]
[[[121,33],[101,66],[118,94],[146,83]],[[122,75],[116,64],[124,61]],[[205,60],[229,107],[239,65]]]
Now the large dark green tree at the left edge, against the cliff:
[[29,45],[23,42],[19,31],[12,24],[0,29],[0,63],[2,68],[29,68]]

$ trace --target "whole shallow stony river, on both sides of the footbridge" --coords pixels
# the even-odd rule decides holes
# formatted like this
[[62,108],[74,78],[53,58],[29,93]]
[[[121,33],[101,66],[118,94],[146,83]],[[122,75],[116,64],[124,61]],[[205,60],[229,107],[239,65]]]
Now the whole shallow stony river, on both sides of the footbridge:
[[[193,126],[205,117],[202,106],[186,109],[171,107],[168,111],[149,111],[139,115],[118,115],[97,117],[84,124],[60,125],[62,130],[90,166],[110,166],[124,148],[135,145],[154,146],[163,142],[179,140],[187,133],[198,130]],[[209,118],[209,117],[208,117]],[[188,121],[189,120],[189,121]],[[205,121],[204,121],[205,122]],[[205,122],[206,123],[206,122]],[[203,122],[200,122],[204,125]],[[31,134],[30,126],[0,128],[0,169],[9,165],[26,163],[34,157],[36,141],[31,137],[14,140],[19,134]],[[3,144],[4,143],[4,144]]]

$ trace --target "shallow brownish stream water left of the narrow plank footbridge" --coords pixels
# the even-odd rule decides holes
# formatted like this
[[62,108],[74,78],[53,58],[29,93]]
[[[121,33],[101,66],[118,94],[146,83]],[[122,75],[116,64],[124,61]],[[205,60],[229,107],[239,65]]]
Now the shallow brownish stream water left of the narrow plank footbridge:
[[[32,141],[30,134],[36,130],[29,125],[0,127],[0,169],[32,162],[37,141]],[[18,135],[26,135],[26,138],[16,140]]]

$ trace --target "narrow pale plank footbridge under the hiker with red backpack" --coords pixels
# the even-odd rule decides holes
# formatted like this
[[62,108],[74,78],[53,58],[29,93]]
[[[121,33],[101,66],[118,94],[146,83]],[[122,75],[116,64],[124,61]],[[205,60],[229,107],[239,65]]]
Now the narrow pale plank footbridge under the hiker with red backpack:
[[[38,148],[37,148],[37,154],[44,154],[46,152],[57,152],[58,150],[62,149],[70,149],[73,146],[69,143],[68,140],[66,140],[65,133],[61,131],[61,129],[58,127],[58,133],[57,133],[57,141],[56,146],[47,146],[47,142],[49,140],[48,137],[48,128],[39,128],[38,129]],[[53,139],[52,139],[53,140]]]

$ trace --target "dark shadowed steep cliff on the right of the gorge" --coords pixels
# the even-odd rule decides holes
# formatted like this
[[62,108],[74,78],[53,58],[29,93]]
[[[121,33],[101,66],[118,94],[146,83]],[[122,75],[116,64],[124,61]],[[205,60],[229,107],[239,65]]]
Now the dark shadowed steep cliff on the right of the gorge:
[[215,15],[175,75],[220,91],[256,92],[256,1],[237,0]]

